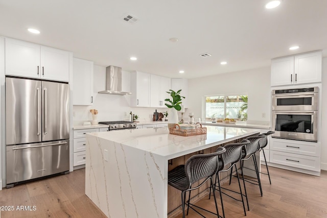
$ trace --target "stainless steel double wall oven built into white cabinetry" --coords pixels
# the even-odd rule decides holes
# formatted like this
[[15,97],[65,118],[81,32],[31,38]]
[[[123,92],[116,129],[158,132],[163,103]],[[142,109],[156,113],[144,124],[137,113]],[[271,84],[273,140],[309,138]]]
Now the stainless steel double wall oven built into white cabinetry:
[[317,141],[318,87],[272,91],[272,137]]

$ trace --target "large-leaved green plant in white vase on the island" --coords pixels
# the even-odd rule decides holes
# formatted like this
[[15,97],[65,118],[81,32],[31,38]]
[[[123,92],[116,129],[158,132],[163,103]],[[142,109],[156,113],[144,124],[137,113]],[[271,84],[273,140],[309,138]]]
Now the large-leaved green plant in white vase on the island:
[[176,92],[170,89],[166,92],[171,96],[171,99],[165,99],[165,101],[168,102],[165,103],[165,105],[170,109],[168,127],[171,128],[178,123],[177,111],[181,110],[180,104],[182,103],[182,98],[185,99],[185,97],[180,95],[181,89]]

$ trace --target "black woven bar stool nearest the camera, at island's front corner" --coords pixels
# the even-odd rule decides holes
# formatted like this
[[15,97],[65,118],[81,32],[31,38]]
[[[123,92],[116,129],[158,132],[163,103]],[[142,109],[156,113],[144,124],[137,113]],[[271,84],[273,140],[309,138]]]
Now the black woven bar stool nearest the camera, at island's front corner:
[[[191,191],[194,189],[199,188],[202,186],[207,180],[210,180],[211,186],[210,186],[210,192],[211,189],[214,189],[213,179],[212,177],[217,173],[218,171],[218,156],[223,154],[226,150],[224,148],[220,148],[215,153],[211,154],[198,154],[193,155],[190,157],[185,165],[179,165],[176,168],[174,168],[172,171],[168,172],[168,184],[173,186],[174,188],[177,188],[178,190],[181,190],[181,202],[182,202],[182,210],[183,210],[183,218],[185,218],[185,198],[186,198],[186,192],[189,191],[189,200],[187,203],[188,205],[188,212],[189,214],[189,208],[193,209],[197,213],[199,213],[197,210],[195,210],[192,206],[195,206],[197,208],[200,208],[202,210],[205,210],[207,212],[213,213],[219,217],[218,212],[218,206],[217,206],[217,200],[214,192],[214,199],[216,204],[216,211],[217,213],[214,213],[212,211],[203,209],[201,207],[198,207],[194,204],[190,203],[190,196]],[[201,184],[199,184],[196,187],[191,187],[192,184],[195,182],[206,178]],[[202,217],[201,213],[199,213]]]

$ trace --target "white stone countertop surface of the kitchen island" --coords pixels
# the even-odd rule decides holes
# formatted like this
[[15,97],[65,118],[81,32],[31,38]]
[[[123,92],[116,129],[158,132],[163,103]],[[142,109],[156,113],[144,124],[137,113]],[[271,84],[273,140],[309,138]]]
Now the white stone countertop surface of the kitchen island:
[[213,147],[230,140],[260,133],[259,129],[206,126],[207,134],[179,136],[169,134],[168,128],[131,129],[88,133],[96,137],[124,144],[138,150],[150,152],[169,160]]

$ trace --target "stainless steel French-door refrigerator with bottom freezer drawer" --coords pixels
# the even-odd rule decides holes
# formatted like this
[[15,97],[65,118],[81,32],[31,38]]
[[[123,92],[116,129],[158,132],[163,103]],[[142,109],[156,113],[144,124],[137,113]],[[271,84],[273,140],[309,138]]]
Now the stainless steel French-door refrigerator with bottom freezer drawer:
[[69,171],[67,83],[6,78],[7,187]]

